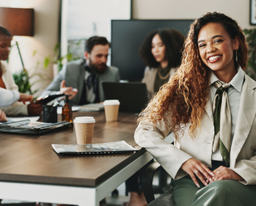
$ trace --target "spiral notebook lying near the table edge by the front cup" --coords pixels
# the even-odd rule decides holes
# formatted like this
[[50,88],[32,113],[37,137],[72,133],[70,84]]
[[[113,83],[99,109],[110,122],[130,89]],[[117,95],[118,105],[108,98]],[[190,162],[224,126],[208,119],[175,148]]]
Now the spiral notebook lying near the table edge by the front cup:
[[63,155],[110,155],[114,153],[137,152],[125,141],[110,142],[102,144],[86,145],[56,145],[52,144],[53,149]]

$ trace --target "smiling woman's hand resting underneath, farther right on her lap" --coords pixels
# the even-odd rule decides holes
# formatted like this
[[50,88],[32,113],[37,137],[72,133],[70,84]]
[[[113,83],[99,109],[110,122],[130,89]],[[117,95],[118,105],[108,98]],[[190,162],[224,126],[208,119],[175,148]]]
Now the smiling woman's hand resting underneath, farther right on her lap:
[[214,177],[213,180],[236,180],[236,181],[243,181],[245,180],[240,175],[238,175],[235,171],[228,167],[220,166],[213,171]]

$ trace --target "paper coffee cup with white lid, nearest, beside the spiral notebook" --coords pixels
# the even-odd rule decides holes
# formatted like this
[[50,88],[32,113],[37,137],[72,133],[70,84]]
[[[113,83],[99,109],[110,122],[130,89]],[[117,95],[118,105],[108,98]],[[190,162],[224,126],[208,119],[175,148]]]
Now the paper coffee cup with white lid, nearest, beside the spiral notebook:
[[95,119],[91,116],[80,116],[76,117],[73,123],[78,144],[92,144]]

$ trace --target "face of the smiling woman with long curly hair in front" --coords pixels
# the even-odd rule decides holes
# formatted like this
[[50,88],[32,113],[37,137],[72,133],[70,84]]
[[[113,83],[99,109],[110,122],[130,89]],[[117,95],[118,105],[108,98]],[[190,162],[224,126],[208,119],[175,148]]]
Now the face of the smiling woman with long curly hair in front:
[[234,68],[235,49],[239,48],[237,38],[232,40],[219,23],[208,23],[198,35],[198,47],[202,61],[213,71]]

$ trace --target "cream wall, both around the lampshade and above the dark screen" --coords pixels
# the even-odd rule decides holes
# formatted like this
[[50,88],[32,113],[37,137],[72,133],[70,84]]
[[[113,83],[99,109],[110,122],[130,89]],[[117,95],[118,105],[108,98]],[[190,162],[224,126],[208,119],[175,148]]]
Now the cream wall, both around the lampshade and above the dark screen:
[[[35,36],[14,37],[20,44],[21,55],[25,68],[33,73],[39,61],[39,73],[52,79],[52,66],[47,71],[43,69],[43,59],[53,55],[53,47],[57,43],[58,12],[60,0],[0,0],[0,7],[34,8]],[[249,24],[249,0],[132,0],[134,19],[195,19],[207,11],[225,13],[235,19],[244,28]],[[32,57],[34,50],[38,53]],[[13,49],[10,54],[10,68],[13,72],[21,70],[18,52]],[[50,80],[37,82],[33,90],[42,91]],[[40,92],[39,92],[40,93]],[[39,94],[37,93],[37,94]]]

